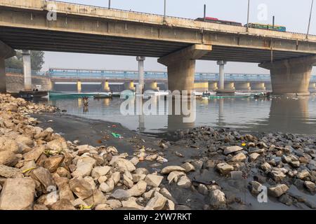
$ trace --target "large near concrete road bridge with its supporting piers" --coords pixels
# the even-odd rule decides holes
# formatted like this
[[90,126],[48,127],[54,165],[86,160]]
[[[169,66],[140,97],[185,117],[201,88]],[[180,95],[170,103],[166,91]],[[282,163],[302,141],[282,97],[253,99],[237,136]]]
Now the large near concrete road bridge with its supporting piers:
[[[167,66],[169,90],[193,90],[195,61],[218,61],[225,90],[227,62],[252,62],[270,70],[276,94],[308,94],[316,62],[316,36],[247,29],[95,6],[41,0],[0,1],[0,91],[4,59],[22,49],[25,89],[31,87],[28,50],[138,56],[139,85],[145,57]],[[48,20],[53,9],[57,20]]]

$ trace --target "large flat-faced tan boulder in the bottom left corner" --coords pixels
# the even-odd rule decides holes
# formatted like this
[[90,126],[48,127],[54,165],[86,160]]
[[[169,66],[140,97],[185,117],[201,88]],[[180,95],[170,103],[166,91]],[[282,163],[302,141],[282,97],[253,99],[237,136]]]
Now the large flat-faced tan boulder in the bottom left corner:
[[6,179],[0,195],[0,210],[32,209],[35,183],[29,178]]

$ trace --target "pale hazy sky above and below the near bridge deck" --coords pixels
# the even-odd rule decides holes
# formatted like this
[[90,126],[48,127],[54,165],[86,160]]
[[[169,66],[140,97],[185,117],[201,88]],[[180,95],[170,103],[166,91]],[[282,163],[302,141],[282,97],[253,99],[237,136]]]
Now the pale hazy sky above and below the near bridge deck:
[[[108,5],[108,0],[63,0],[71,3],[82,3],[91,6]],[[207,6],[207,16],[221,20],[232,20],[246,24],[247,0],[166,0],[167,15],[192,18],[203,16],[204,3]],[[284,25],[288,31],[306,33],[310,13],[311,0],[251,0],[250,22],[275,23]],[[112,8],[135,10],[144,13],[163,14],[164,0],[111,0]],[[266,18],[265,13],[266,10]],[[310,34],[316,34],[316,4],[313,8]],[[61,52],[46,52],[44,70],[49,67],[87,68],[87,69],[132,69],[138,64],[135,57],[113,55],[88,55]],[[166,70],[157,63],[157,58],[147,58],[145,70]],[[217,72],[218,66],[212,61],[197,61],[197,71]],[[225,67],[228,73],[268,73],[268,70],[258,68],[258,64],[228,62]]]

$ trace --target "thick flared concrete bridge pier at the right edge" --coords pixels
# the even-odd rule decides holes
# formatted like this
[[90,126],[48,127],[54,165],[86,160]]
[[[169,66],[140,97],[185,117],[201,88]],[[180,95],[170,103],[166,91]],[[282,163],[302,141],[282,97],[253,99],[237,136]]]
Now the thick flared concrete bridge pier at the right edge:
[[309,94],[310,75],[316,57],[300,57],[277,62],[259,64],[270,69],[273,94]]

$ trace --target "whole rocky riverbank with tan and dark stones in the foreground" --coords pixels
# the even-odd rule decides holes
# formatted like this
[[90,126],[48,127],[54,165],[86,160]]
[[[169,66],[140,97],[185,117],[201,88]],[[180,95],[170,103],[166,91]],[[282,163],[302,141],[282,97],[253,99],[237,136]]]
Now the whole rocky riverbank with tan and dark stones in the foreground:
[[148,137],[8,95],[0,106],[0,209],[316,208],[314,137]]

